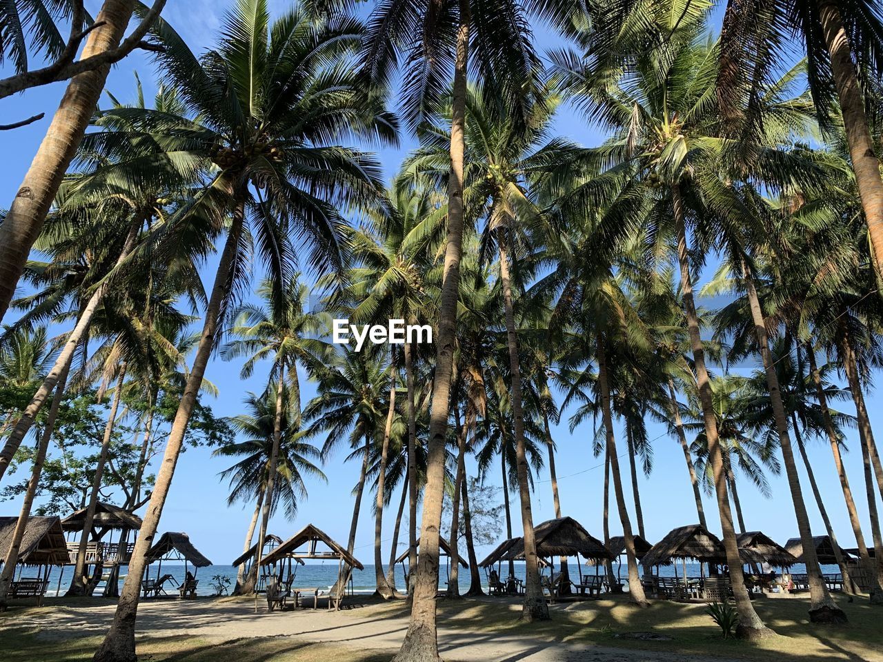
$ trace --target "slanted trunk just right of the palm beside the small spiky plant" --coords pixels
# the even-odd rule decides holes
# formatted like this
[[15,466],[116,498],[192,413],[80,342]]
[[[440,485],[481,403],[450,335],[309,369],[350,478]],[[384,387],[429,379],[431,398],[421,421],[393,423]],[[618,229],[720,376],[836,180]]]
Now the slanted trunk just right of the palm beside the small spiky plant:
[[681,276],[683,309],[687,318],[687,328],[690,332],[693,365],[696,370],[699,402],[702,404],[702,419],[706,428],[706,439],[708,440],[708,456],[711,460],[714,474],[714,490],[717,495],[718,511],[721,515],[721,533],[723,534],[723,545],[727,552],[730,584],[736,600],[736,610],[739,613],[739,626],[736,634],[743,638],[756,639],[770,636],[773,632],[766,627],[764,621],[761,621],[758,613],[754,611],[754,606],[751,605],[751,598],[745,588],[742,560],[739,558],[736,530],[733,527],[733,513],[729,509],[727,474],[723,469],[723,457],[718,438],[717,418],[714,414],[711,381],[708,378],[708,369],[706,368],[706,353],[702,345],[702,336],[699,332],[699,318],[696,312],[696,303],[693,299],[690,254],[687,252],[687,230],[684,224],[683,198],[681,197],[679,184],[671,186],[671,195],[675,214],[677,261]]

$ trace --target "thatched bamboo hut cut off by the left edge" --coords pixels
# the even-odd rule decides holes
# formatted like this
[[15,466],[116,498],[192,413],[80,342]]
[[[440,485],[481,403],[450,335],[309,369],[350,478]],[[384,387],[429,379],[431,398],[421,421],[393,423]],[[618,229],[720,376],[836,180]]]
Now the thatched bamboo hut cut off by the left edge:
[[[6,562],[18,523],[18,517],[0,517],[0,567]],[[50,569],[52,566],[64,567],[67,559],[61,520],[57,517],[29,517],[16,560],[19,573],[18,576],[13,575],[7,598],[36,598],[37,604],[42,605],[49,586]],[[31,575],[32,572],[34,575]]]

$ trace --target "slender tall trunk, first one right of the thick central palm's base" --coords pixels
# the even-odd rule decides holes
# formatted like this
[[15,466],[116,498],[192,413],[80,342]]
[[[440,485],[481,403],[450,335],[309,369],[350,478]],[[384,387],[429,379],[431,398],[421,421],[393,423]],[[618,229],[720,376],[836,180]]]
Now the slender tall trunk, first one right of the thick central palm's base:
[[537,543],[533,534],[531,508],[531,484],[528,479],[527,453],[525,450],[525,411],[521,395],[521,366],[518,361],[518,341],[515,331],[515,304],[512,297],[512,279],[509,275],[509,256],[506,250],[506,230],[498,237],[500,250],[500,280],[505,307],[506,335],[509,342],[509,372],[512,380],[512,418],[515,427],[515,459],[518,477],[518,495],[521,498],[521,523],[525,536],[525,606],[521,613],[524,621],[545,621],[549,608],[540,584],[540,561],[537,559]]

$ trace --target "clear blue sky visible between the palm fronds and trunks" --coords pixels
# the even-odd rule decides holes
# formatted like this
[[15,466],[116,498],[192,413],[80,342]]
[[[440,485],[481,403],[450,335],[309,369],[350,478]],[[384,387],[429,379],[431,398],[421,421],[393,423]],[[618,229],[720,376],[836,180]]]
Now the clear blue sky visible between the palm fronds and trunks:
[[[211,43],[213,35],[221,24],[222,8],[227,6],[228,2],[229,0],[224,0],[224,2],[191,0],[185,3],[181,0],[170,0],[163,16],[176,27],[178,32],[185,36],[194,50],[200,51]],[[88,3],[93,9],[94,4]],[[271,7],[275,10],[283,6],[284,3],[280,0],[274,0],[271,3]],[[540,51],[559,46],[554,38],[541,27],[537,28],[536,38]],[[132,71],[135,70],[139,71],[145,87],[149,90],[155,68],[142,54],[136,53],[124,62],[117,64],[109,76],[108,89],[122,102],[134,100]],[[5,74],[5,71],[3,73]],[[0,207],[9,207],[21,177],[26,172],[29,161],[40,144],[43,132],[49,124],[49,117],[56,108],[63,91],[64,84],[55,84],[0,100],[0,117],[2,117],[4,124],[31,117],[39,112],[46,112],[48,116],[42,122],[16,131],[0,132],[0,154],[2,154],[2,159],[0,159]],[[583,145],[597,144],[601,139],[600,133],[596,129],[587,126],[581,117],[566,106],[558,114],[555,131]],[[412,145],[413,143],[409,139],[404,139],[401,148],[381,151],[380,158],[387,176],[391,176],[396,171],[403,154]],[[211,267],[212,263],[214,260],[209,260],[208,266]],[[211,271],[207,268],[205,272],[204,278],[207,279],[207,285],[210,286]],[[256,266],[255,273],[260,275],[260,266]],[[752,366],[748,365],[747,367],[750,369]],[[262,380],[265,379],[266,371],[262,372],[260,366],[255,370],[253,378],[249,380],[239,379],[239,368],[238,363],[225,363],[219,358],[215,358],[208,366],[208,379],[212,380],[220,389],[220,395],[214,401],[208,399],[208,402],[219,415],[239,413],[243,410],[242,399],[245,392],[258,392],[263,386]],[[315,387],[313,384],[306,383],[306,380],[302,380],[302,384],[303,397],[306,402],[308,398],[315,395]],[[878,395],[871,395],[869,398],[872,424],[878,430],[883,422],[883,415],[880,413],[883,410],[880,406],[881,402],[883,401]],[[851,407],[846,403],[842,404],[841,408],[851,411]],[[566,418],[566,415],[567,412],[563,418]],[[593,535],[600,537],[603,470],[600,460],[592,456],[592,429],[589,425],[582,425],[570,433],[565,422],[555,426],[553,435],[558,445],[556,464],[564,514],[576,517]],[[617,436],[621,446],[624,447],[623,437],[618,430]],[[697,517],[691,488],[687,482],[683,454],[676,440],[668,436],[660,425],[651,426],[650,438],[653,439],[654,450],[653,473],[649,478],[643,475],[639,476],[638,483],[642,495],[647,537],[653,542],[675,526],[695,522]],[[868,518],[867,505],[863,496],[861,454],[857,444],[857,433],[850,431],[848,445],[852,450],[846,454],[845,463],[852,481],[853,491],[861,497],[857,499],[858,509],[865,526],[865,534],[870,539],[866,528]],[[808,446],[819,487],[826,498],[828,512],[841,545],[855,546],[831,461],[830,448],[827,447],[826,442],[822,443],[820,440],[810,440]],[[295,522],[288,522],[283,518],[283,515],[277,515],[271,523],[271,532],[287,538],[306,523],[314,523],[322,530],[327,531],[333,538],[346,540],[352,509],[351,489],[358,478],[358,466],[355,463],[343,463],[343,456],[343,453],[339,453],[331,458],[328,465],[324,467],[328,475],[327,484],[313,482],[307,486],[309,499],[301,505],[298,519]],[[253,509],[252,506],[247,505],[232,508],[226,506],[227,488],[226,485],[219,482],[217,477],[217,473],[225,466],[223,461],[211,456],[210,449],[196,448],[185,452],[177,464],[176,477],[166,502],[160,526],[161,531],[186,531],[190,534],[194,544],[216,564],[229,563],[241,552],[243,537]],[[474,474],[474,463],[469,463],[467,470]],[[764,530],[767,535],[779,542],[784,542],[785,539],[797,535],[794,510],[784,476],[770,476],[769,478],[773,491],[770,499],[764,498],[747,483],[741,485],[740,497],[746,524],[749,530]],[[499,485],[497,477],[492,475],[487,479],[488,482]],[[623,479],[626,481],[626,493],[630,494],[627,474]],[[801,480],[804,485],[804,495],[811,516],[813,532],[822,534],[824,529],[821,518],[818,509],[811,500],[808,481],[802,469]],[[366,494],[356,543],[356,556],[365,562],[372,559],[371,545],[374,536],[373,519],[368,503],[370,499],[371,497]],[[513,505],[515,503],[517,503],[517,499],[513,500]],[[18,501],[5,502],[0,504],[0,513],[4,515],[17,514],[19,507]],[[537,477],[533,508],[537,522],[554,516],[551,486],[548,483],[545,470]],[[633,511],[631,506],[630,510]],[[710,497],[706,497],[706,515],[709,518],[711,529],[719,531],[717,509],[713,506],[713,500]],[[391,537],[392,523],[389,520],[392,516],[387,515],[384,540]],[[520,521],[517,515],[514,516],[514,520],[516,523]],[[632,523],[634,526],[634,519]],[[520,525],[516,524],[516,534],[518,529],[520,529]],[[614,516],[611,518],[611,533],[616,535],[619,532],[620,526]],[[401,539],[406,543],[405,528],[403,528]],[[400,546],[400,549],[403,548]],[[479,555],[483,551],[485,550],[479,550]],[[387,558],[387,554],[388,552],[384,552],[384,558]]]

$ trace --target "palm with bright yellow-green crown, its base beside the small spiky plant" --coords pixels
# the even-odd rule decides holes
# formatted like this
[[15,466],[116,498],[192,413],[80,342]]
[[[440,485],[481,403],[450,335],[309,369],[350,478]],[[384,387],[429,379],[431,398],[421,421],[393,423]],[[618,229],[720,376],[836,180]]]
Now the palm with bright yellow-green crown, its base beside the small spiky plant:
[[[701,16],[701,10],[698,11]],[[658,20],[657,23],[648,22],[652,34],[660,39],[662,35],[670,38],[658,49],[629,56],[626,60],[630,68],[628,78],[617,72],[621,70],[608,68],[608,63],[603,60],[592,66],[591,61],[586,64],[573,53],[555,54],[555,72],[564,82],[567,93],[585,104],[590,117],[615,131],[614,137],[597,150],[594,158],[611,164],[610,169],[614,172],[634,169],[639,177],[634,186],[646,187],[647,197],[653,200],[653,207],[645,212],[651,219],[647,227],[657,242],[651,250],[655,254],[665,251],[665,245],[659,242],[668,233],[660,232],[660,229],[668,229],[668,236],[673,237],[698,395],[714,470],[723,543],[740,614],[739,634],[767,636],[770,631],[751,606],[739,569],[742,566],[729,508],[726,471],[714,417],[687,243],[687,223],[705,215],[704,203],[697,195],[698,184],[719,175],[720,161],[710,159],[709,154],[719,153],[721,143],[715,137],[716,118],[708,111],[705,102],[714,92],[718,47],[702,36],[701,22],[690,19],[686,13],[684,19],[663,14]],[[633,79],[639,82],[633,82]],[[638,192],[630,190],[629,195],[635,196]],[[622,218],[625,229],[633,223],[633,220]],[[632,231],[637,231],[633,225],[631,227]]]

